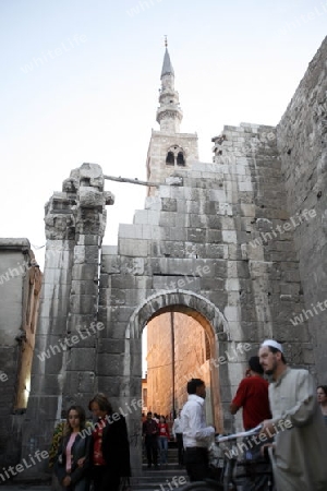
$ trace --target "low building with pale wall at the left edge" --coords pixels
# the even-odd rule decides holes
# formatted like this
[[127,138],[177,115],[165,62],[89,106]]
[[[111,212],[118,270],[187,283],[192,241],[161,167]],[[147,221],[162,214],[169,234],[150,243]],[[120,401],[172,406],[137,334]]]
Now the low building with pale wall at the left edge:
[[27,239],[0,239],[0,466],[21,457],[41,273]]

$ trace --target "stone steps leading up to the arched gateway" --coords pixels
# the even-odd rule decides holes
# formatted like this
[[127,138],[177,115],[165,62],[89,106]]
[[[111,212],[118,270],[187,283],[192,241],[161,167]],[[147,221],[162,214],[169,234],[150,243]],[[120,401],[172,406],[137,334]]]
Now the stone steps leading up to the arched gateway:
[[178,465],[178,450],[172,442],[168,446],[167,465],[148,469],[144,460],[141,476],[131,479],[132,491],[181,491],[186,482],[189,478],[185,468]]

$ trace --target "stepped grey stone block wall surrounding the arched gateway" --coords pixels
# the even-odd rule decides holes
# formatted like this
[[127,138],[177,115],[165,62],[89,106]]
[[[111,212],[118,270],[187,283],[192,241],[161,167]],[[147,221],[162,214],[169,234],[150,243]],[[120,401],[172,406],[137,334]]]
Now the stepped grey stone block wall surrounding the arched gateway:
[[[216,309],[223,319],[222,332],[210,323],[210,315],[199,315],[198,322],[209,336],[215,423],[231,430],[228,405],[247,358],[264,338],[282,342],[292,363],[313,363],[306,325],[294,328],[291,323],[303,309],[303,294],[276,129],[247,123],[225,127],[215,139],[213,164],[179,169],[179,181],[173,176],[149,196],[145,209],[136,211],[132,225],[120,227],[117,250],[104,256],[101,322],[110,343],[123,336],[130,322],[129,356],[121,363],[140,367],[140,374],[131,370],[136,392],[129,394],[136,396],[141,342],[131,323],[135,310],[154,298],[158,314],[170,296],[183,291]],[[173,312],[180,309],[186,306],[175,301],[169,307]],[[196,319],[197,310],[191,307],[191,311]],[[149,320],[148,314],[144,322]],[[189,330],[186,343],[192,344],[193,333]],[[126,372],[125,364],[120,372]],[[120,403],[119,394],[112,395]]]

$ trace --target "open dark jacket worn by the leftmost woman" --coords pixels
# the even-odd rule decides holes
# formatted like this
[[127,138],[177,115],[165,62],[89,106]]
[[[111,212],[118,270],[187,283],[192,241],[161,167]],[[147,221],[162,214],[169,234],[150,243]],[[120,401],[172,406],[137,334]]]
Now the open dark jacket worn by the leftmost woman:
[[[70,434],[64,435],[59,444],[57,459],[53,466],[56,476],[61,482],[62,479],[68,476],[65,470],[66,455],[65,448],[68,442],[70,440]],[[89,451],[90,451],[92,436],[86,433],[83,433],[83,436],[77,433],[75,441],[72,445],[72,467],[71,474],[69,475],[71,478],[72,486],[74,486],[80,479],[86,476],[89,469]],[[77,466],[77,460],[82,457],[85,457],[83,467]]]

